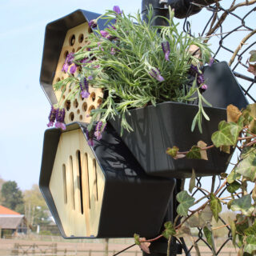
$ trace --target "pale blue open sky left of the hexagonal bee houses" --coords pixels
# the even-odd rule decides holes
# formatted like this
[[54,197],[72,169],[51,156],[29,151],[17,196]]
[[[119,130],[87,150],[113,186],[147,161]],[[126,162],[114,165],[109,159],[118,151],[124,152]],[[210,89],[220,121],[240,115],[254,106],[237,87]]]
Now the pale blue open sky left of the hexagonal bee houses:
[[[38,183],[50,111],[39,85],[46,24],[77,9],[103,13],[114,5],[134,13],[140,9],[141,1],[1,0],[1,178],[15,180],[22,190]],[[193,18],[192,25],[201,26],[203,15],[197,15],[198,20]]]

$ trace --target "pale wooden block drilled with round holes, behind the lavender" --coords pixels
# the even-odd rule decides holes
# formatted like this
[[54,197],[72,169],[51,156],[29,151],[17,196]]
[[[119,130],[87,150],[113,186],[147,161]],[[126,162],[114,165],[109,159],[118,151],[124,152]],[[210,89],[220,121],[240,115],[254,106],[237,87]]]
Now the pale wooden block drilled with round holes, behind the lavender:
[[[55,70],[55,76],[53,80],[53,85],[56,82],[59,82],[65,78],[69,77],[69,74],[62,71],[62,66],[65,62],[67,54],[70,52],[77,52],[82,49],[83,46],[86,46],[88,34],[90,34],[91,30],[88,26],[88,22],[84,22],[79,26],[75,26],[74,28],[67,30],[66,38],[63,42],[61,54],[58,58],[58,65]],[[72,64],[74,65],[74,64]],[[72,66],[71,65],[71,66]],[[70,66],[70,67],[71,67]],[[69,67],[69,70],[70,70]],[[76,77],[78,75],[78,71],[74,74]],[[68,100],[69,94],[73,90],[73,86],[67,85],[66,90],[63,92],[61,90],[55,91],[56,98],[58,102],[61,100],[64,101],[64,107],[66,110],[65,122],[66,124],[70,122],[90,122],[90,111],[97,109],[98,106],[102,103],[102,89],[94,88],[89,84],[89,98],[82,98],[80,94],[77,94],[74,98],[73,102]],[[62,98],[61,98],[62,97]]]

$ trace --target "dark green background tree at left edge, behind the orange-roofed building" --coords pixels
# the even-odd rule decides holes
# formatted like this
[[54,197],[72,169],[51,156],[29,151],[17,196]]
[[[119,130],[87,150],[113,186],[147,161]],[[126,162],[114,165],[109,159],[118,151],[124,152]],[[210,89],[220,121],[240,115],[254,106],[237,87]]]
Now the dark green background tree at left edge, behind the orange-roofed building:
[[5,182],[2,184],[2,205],[10,208],[11,210],[17,210],[23,214],[23,196],[22,191],[19,190],[16,182]]

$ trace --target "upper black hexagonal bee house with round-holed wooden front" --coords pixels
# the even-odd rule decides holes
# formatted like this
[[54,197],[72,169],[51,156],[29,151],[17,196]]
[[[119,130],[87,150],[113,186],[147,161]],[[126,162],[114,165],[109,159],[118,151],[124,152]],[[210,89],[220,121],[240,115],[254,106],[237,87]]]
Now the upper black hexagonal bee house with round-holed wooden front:
[[[40,83],[51,104],[62,102],[66,110],[65,122],[90,122],[90,111],[98,108],[102,103],[102,89],[94,88],[89,83],[89,98],[82,98],[77,94],[73,102],[68,96],[73,89],[70,84],[66,88],[54,91],[54,84],[68,78],[69,74],[62,70],[66,56],[71,52],[76,53],[82,47],[86,47],[88,34],[92,33],[88,22],[98,18],[99,14],[94,14],[86,10],[76,10],[74,13],[60,18],[55,22],[50,22],[46,26],[46,35],[42,57],[42,70]],[[102,22],[98,26],[103,29]],[[74,66],[72,64],[71,66]],[[68,71],[70,71],[69,66]],[[78,75],[78,70],[74,77]]]

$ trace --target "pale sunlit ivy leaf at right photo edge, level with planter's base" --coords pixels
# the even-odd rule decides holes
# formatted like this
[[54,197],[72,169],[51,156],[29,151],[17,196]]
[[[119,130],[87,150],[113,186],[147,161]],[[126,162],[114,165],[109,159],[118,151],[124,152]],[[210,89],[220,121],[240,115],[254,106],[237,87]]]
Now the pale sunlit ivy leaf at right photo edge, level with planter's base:
[[238,174],[249,178],[251,182],[254,182],[256,174],[256,152],[251,151],[246,158],[239,162],[237,169]]

